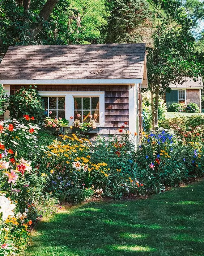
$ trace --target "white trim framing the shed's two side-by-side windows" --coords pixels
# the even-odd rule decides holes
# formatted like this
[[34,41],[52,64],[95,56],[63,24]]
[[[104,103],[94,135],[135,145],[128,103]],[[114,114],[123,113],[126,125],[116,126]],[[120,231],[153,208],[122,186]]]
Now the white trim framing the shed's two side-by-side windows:
[[[105,92],[51,92],[51,91],[39,91],[42,97],[65,97],[65,118],[69,121],[69,125],[72,125],[74,116],[74,97],[99,97],[99,124],[97,126],[105,126]],[[70,105],[69,105],[70,104]],[[68,107],[70,106],[70,107]]]

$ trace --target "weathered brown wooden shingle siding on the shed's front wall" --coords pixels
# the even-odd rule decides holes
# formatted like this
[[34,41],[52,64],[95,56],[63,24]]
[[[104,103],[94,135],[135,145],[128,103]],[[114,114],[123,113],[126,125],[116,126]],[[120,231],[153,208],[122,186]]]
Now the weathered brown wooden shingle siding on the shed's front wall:
[[[11,94],[20,88],[21,85],[11,86]],[[41,92],[105,92],[105,127],[99,127],[98,130],[101,135],[119,134],[118,128],[129,121],[128,85],[38,85],[37,90]]]

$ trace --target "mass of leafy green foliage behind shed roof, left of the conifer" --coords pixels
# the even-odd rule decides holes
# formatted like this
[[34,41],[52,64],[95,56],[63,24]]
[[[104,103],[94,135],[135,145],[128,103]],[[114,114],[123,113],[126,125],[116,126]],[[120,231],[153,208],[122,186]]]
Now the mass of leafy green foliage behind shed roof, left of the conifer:
[[[106,0],[61,0],[47,20],[39,16],[46,1],[31,1],[26,11],[23,1],[0,2],[0,52],[10,45],[90,44],[101,37],[109,10]],[[42,24],[36,38],[32,29]]]

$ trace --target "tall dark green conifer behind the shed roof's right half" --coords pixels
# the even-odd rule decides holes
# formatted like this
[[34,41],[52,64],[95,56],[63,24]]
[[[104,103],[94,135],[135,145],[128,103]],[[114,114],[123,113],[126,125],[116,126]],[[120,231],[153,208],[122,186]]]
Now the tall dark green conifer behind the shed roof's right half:
[[108,43],[141,42],[150,19],[149,4],[146,0],[111,0],[111,16],[105,29]]

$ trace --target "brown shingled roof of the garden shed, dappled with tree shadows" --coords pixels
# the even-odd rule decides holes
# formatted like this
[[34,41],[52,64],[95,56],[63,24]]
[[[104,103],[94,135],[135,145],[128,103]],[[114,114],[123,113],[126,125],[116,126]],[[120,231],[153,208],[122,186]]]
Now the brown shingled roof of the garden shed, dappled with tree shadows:
[[0,80],[142,79],[145,65],[145,44],[10,46]]

